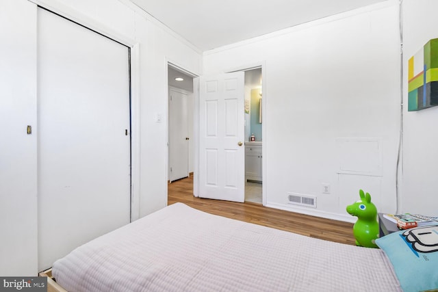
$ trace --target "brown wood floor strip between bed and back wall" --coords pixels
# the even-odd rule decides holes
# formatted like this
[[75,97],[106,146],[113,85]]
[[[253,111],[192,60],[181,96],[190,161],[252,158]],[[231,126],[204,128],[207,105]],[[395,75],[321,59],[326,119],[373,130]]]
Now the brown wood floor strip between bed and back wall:
[[253,202],[226,202],[193,196],[193,176],[168,184],[168,204],[182,202],[207,213],[319,239],[355,244],[353,224],[263,207]]

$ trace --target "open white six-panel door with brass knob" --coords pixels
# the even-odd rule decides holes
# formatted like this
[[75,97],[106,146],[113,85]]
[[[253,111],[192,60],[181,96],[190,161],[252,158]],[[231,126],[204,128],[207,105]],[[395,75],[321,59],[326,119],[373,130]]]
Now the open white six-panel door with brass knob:
[[244,72],[200,77],[198,196],[244,202]]

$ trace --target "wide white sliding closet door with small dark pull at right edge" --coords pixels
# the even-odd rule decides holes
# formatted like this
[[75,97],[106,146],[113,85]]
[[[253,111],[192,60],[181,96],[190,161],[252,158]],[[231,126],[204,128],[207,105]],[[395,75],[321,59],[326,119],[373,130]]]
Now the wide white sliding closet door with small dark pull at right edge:
[[38,10],[38,268],[129,223],[129,49]]

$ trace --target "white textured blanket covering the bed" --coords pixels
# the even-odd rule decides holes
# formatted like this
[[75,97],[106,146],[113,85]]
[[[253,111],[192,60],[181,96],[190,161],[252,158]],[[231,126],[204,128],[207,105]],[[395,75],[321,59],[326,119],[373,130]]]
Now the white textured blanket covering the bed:
[[401,291],[381,250],[172,204],[53,264],[68,291]]

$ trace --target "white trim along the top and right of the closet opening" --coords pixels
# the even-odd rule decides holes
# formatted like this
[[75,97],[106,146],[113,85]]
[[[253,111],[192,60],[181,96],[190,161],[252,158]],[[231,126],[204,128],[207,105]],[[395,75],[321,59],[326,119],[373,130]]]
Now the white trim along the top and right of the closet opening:
[[57,1],[29,0],[32,3],[73,21],[87,29],[125,45],[130,53],[131,98],[131,222],[140,218],[140,44],[111,27]]

